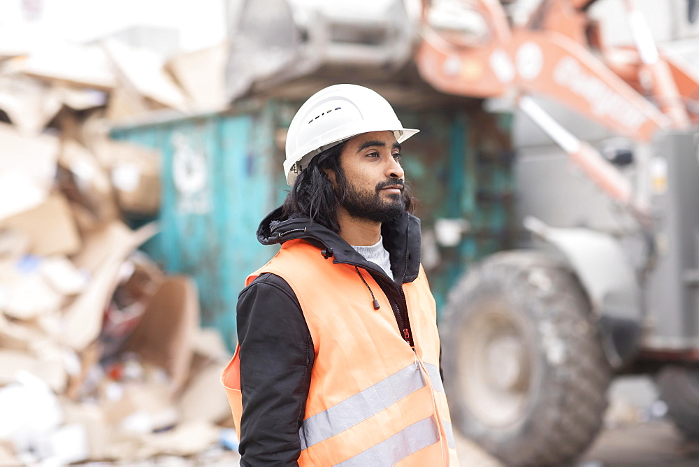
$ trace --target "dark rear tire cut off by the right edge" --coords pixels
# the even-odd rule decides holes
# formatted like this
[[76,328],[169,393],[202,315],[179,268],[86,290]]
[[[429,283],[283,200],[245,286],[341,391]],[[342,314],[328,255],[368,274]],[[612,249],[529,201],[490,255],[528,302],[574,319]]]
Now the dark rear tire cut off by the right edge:
[[699,368],[668,366],[657,383],[672,422],[686,438],[699,440]]

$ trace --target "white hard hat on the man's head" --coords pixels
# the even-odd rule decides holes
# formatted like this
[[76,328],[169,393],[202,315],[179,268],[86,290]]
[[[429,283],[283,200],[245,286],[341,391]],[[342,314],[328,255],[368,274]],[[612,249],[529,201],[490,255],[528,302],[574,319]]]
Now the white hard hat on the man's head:
[[284,161],[287,183],[293,185],[315,155],[369,131],[393,131],[402,143],[419,130],[403,128],[391,104],[366,87],[333,85],[313,94],[289,125]]

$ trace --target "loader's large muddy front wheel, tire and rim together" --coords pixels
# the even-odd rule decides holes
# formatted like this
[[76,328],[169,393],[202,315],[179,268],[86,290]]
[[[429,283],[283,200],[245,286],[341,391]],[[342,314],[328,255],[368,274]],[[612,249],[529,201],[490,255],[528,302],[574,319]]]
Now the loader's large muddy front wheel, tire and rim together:
[[561,465],[600,430],[611,369],[569,268],[538,252],[475,266],[442,321],[452,420],[510,465]]

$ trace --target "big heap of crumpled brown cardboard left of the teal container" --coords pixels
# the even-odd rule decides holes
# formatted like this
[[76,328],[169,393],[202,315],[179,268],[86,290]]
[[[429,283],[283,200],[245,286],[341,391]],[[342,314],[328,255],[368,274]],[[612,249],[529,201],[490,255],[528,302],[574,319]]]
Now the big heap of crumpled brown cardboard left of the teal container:
[[0,53],[0,465],[202,452],[230,423],[230,356],[192,279],[138,250],[157,234],[159,152],[108,129],[222,97],[185,91],[202,54],[73,52]]

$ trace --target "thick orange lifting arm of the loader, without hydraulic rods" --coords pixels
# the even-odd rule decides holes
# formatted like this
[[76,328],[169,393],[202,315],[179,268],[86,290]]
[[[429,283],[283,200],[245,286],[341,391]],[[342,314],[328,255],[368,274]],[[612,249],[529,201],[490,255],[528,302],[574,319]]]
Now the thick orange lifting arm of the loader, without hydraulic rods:
[[[658,129],[672,126],[670,117],[591,50],[584,21],[584,10],[591,3],[547,0],[532,15],[539,17],[537,25],[530,20],[524,26],[510,27],[500,2],[476,0],[472,2],[475,12],[482,15],[491,34],[484,43],[469,46],[450,40],[453,34],[442,34],[428,23],[431,6],[426,2],[423,40],[416,56],[421,76],[449,94],[547,96],[618,134],[649,141]],[[559,30],[565,22],[562,17],[573,18],[568,24],[577,29],[568,28],[564,34]],[[675,67],[670,66],[669,74],[684,78],[685,93],[697,85],[688,73]],[[662,85],[656,82],[657,87]]]

